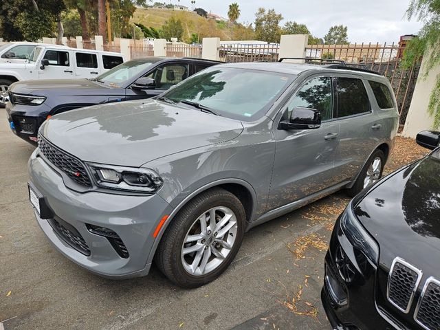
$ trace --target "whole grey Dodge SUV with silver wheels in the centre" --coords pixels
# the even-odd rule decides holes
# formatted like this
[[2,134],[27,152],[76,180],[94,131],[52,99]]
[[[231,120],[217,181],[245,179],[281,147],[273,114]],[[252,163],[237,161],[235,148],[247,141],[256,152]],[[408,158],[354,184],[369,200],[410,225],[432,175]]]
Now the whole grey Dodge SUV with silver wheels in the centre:
[[55,115],[29,161],[39,225],[102,276],[144,276],[154,260],[183,287],[214,280],[250,228],[380,179],[391,85],[332,67],[216,65],[155,99]]

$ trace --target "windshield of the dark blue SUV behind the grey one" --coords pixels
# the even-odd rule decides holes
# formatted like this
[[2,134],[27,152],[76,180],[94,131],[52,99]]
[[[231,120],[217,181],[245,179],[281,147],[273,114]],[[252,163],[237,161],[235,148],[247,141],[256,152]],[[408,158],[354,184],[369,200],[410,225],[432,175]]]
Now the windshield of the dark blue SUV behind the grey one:
[[122,87],[127,80],[135,76],[139,76],[142,74],[142,72],[144,72],[146,67],[149,67],[153,63],[155,63],[155,61],[128,61],[113,67],[113,69],[107,72],[104,72],[104,74],[96,77],[96,80],[98,80],[100,83],[113,87]]

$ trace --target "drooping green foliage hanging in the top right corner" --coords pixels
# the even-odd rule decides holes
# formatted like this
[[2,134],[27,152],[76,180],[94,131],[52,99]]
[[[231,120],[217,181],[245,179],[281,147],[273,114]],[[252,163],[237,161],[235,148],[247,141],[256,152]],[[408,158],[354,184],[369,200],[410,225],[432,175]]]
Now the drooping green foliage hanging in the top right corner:
[[[406,12],[408,19],[413,17],[423,22],[418,36],[411,39],[405,47],[402,67],[408,69],[423,56],[422,78],[440,65],[440,0],[412,0]],[[435,77],[430,94],[428,112],[434,117],[433,129],[440,127],[440,75]]]

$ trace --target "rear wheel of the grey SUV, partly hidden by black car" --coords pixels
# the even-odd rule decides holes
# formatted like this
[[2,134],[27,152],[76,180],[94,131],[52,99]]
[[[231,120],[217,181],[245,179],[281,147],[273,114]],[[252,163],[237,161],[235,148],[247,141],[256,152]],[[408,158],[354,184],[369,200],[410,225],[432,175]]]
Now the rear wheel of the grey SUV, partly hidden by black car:
[[347,190],[351,197],[358,195],[363,189],[375,184],[382,177],[384,171],[385,155],[382,150],[376,149],[374,153],[366,161],[362,168],[358,179],[356,179],[353,187]]

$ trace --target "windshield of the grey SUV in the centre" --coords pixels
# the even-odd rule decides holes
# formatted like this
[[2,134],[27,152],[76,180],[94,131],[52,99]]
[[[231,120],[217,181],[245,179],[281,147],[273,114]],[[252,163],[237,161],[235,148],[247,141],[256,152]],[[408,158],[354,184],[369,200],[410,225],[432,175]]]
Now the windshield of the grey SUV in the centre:
[[276,72],[216,66],[184,80],[162,96],[174,102],[197,104],[228,118],[250,121],[264,115],[294,78]]

